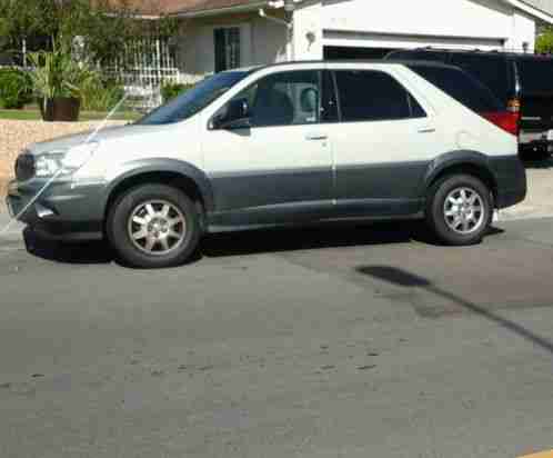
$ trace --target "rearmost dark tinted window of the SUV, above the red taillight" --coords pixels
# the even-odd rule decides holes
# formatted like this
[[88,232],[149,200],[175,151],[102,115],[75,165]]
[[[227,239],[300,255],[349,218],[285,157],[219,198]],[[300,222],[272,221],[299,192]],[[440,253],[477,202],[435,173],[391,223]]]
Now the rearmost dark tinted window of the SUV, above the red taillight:
[[431,66],[409,68],[477,113],[504,111],[504,107],[490,89],[462,70]]

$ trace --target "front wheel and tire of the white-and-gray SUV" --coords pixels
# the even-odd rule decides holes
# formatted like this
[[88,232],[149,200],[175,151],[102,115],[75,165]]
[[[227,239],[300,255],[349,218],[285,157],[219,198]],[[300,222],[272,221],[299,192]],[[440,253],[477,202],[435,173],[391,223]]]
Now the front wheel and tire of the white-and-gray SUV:
[[200,241],[194,202],[164,185],[142,185],[121,195],[105,223],[108,239],[124,265],[163,268],[190,260]]

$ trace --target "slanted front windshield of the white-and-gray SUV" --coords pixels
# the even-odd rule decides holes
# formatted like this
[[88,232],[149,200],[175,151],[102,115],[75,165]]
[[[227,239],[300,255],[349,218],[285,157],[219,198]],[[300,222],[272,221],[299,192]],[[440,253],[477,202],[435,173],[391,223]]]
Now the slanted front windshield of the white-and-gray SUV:
[[248,74],[249,71],[225,71],[208,78],[195,84],[193,89],[148,113],[137,121],[137,125],[171,125],[183,121],[204,109]]

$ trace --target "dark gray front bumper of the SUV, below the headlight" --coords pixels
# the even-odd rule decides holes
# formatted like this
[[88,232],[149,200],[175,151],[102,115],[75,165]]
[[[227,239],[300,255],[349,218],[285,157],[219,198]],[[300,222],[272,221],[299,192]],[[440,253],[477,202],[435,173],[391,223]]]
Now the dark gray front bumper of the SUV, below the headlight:
[[[8,211],[39,236],[79,241],[103,238],[104,183],[31,179],[8,186]],[[37,197],[38,196],[38,197]]]

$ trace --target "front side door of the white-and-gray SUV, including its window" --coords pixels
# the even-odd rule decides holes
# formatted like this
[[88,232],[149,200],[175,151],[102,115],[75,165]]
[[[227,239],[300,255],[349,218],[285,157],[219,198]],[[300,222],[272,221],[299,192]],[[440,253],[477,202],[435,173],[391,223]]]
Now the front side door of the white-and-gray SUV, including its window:
[[304,222],[329,216],[332,155],[320,122],[321,74],[302,70],[262,77],[229,102],[245,103],[245,122],[205,127],[203,155],[215,200],[212,226]]

